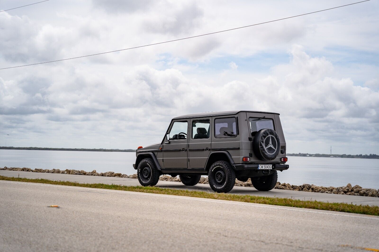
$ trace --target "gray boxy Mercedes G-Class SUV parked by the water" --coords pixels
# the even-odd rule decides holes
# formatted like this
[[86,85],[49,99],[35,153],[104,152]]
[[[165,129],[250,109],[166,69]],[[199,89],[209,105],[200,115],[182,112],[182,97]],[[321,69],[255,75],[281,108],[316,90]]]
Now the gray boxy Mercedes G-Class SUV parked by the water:
[[156,185],[161,174],[179,175],[185,185],[208,175],[218,193],[232,190],[236,178],[269,191],[277,171],[289,167],[279,114],[245,110],[175,117],[162,142],[138,147],[136,157],[143,186]]

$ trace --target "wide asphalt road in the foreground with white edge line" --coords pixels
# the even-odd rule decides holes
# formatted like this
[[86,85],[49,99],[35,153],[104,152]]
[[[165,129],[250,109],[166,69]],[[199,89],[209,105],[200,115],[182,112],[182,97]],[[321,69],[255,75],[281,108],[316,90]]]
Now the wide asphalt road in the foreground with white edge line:
[[0,191],[1,251],[379,249],[374,216],[3,180]]

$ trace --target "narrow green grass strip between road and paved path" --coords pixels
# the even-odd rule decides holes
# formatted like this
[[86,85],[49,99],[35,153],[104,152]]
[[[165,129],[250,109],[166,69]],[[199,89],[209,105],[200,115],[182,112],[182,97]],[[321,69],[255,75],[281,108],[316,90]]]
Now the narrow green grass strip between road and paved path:
[[122,191],[137,191],[141,193],[169,194],[169,195],[206,198],[206,199],[222,199],[226,201],[239,201],[239,202],[249,202],[249,203],[267,204],[267,205],[281,205],[281,206],[286,206],[286,207],[300,207],[300,208],[329,210],[329,211],[345,212],[345,213],[360,213],[360,214],[365,214],[365,215],[379,216],[379,207],[370,206],[370,205],[329,203],[329,202],[321,202],[321,201],[302,201],[299,199],[262,197],[262,196],[252,196],[252,195],[237,195],[237,194],[231,194],[231,193],[207,193],[204,191],[176,190],[176,189],[160,188],[160,187],[124,186],[124,185],[114,185],[114,184],[112,185],[81,184],[77,182],[68,182],[68,181],[54,181],[54,180],[49,180],[49,179],[27,179],[27,178],[5,177],[5,176],[0,176],[0,180],[33,182],[33,183],[43,183],[43,184],[52,184],[52,185],[68,185],[68,186],[74,186],[74,187],[101,188],[101,189],[122,190]]

